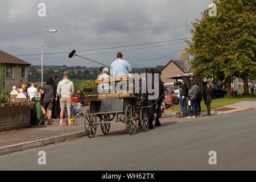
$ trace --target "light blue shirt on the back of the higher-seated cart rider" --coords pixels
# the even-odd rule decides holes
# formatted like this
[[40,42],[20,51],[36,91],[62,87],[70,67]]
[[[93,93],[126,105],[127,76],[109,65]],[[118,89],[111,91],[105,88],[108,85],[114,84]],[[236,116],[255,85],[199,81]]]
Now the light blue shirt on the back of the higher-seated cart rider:
[[111,65],[110,65],[110,75],[112,77],[118,77],[118,76],[126,76],[131,74],[132,68],[131,65],[126,61],[122,59],[117,59],[115,60]]

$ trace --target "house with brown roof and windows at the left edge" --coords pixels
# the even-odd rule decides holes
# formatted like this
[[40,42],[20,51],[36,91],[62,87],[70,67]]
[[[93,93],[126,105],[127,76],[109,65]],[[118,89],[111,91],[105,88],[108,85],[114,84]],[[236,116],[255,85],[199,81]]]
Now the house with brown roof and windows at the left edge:
[[4,67],[3,91],[10,92],[12,86],[27,83],[30,63],[0,50],[0,64]]

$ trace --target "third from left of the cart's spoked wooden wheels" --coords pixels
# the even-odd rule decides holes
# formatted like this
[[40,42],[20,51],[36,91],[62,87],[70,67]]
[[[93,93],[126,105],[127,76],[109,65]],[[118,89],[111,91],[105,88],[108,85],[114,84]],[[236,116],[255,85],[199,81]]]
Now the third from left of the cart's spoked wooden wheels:
[[132,105],[126,106],[125,109],[125,123],[129,134],[133,135],[136,133],[137,128],[137,118],[136,112]]

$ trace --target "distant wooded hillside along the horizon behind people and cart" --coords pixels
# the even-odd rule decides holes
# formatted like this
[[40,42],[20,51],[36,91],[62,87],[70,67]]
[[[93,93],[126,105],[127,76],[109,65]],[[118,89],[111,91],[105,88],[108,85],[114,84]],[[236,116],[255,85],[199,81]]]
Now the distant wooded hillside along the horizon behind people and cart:
[[[162,69],[164,66],[158,65],[155,67],[156,69]],[[97,76],[102,72],[100,68],[86,68],[86,67],[67,67],[66,65],[62,66],[44,66],[44,80],[46,81],[47,78],[52,77],[55,80],[61,80],[63,77],[63,73],[67,71],[69,73],[69,77],[72,80],[95,80]],[[133,73],[144,73],[146,68],[133,68]],[[31,65],[28,67],[28,82],[31,81],[41,81],[41,66],[39,65]]]

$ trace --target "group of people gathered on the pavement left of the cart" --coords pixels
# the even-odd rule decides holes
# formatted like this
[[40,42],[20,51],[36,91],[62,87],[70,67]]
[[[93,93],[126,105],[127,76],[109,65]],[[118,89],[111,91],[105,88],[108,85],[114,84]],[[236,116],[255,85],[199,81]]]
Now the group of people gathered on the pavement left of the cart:
[[47,120],[48,125],[51,125],[53,112],[55,112],[55,117],[60,118],[60,126],[63,126],[65,109],[67,109],[68,113],[68,125],[72,125],[71,108],[75,102],[77,104],[77,110],[81,111],[82,102],[84,100],[82,90],[77,90],[76,98],[73,96],[75,91],[74,84],[69,80],[67,72],[64,72],[63,80],[61,80],[57,86],[53,78],[48,78],[43,88],[41,86],[36,88],[35,82],[31,82],[31,86],[28,88],[27,85],[23,86],[24,88],[16,88],[16,86],[13,86],[13,91],[11,91],[10,94],[16,94],[16,98],[29,100],[40,98],[43,119],[45,121]]

